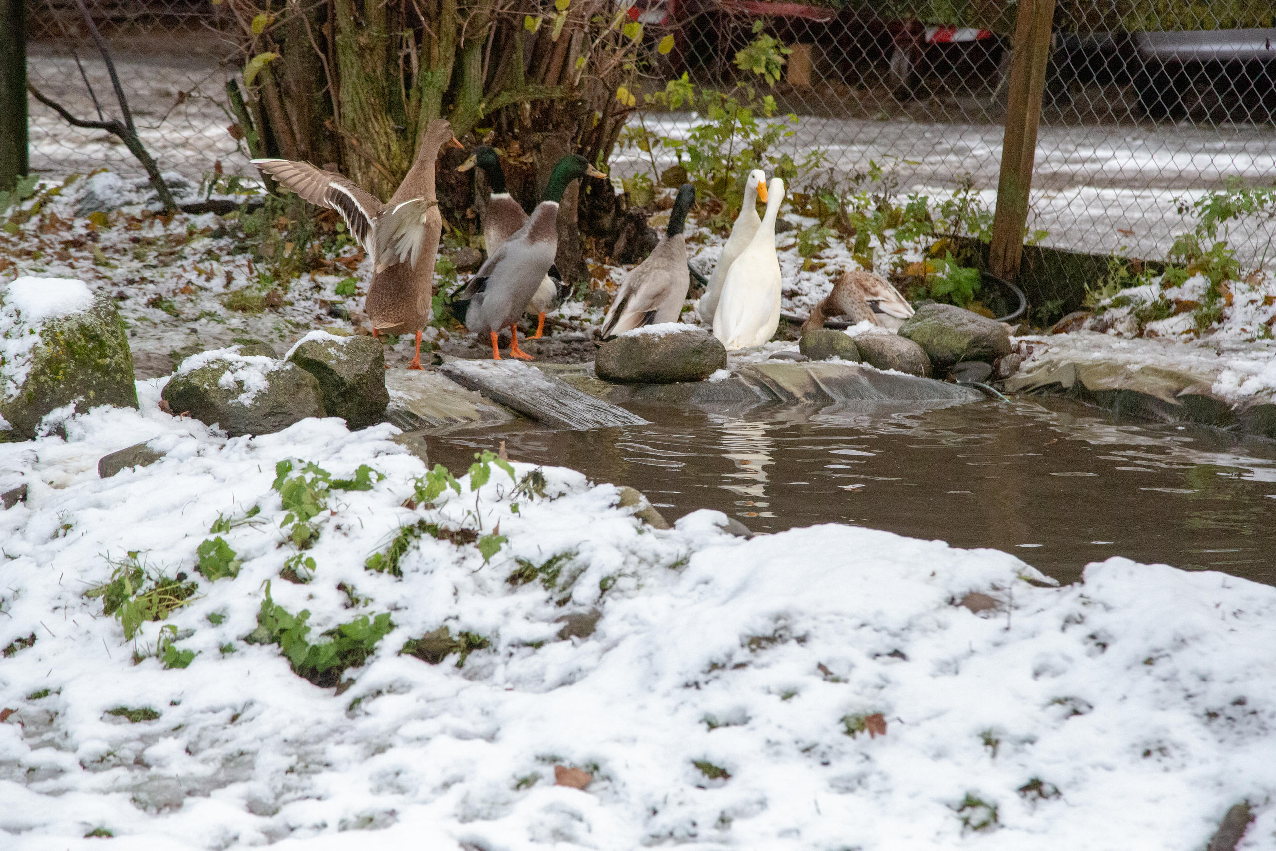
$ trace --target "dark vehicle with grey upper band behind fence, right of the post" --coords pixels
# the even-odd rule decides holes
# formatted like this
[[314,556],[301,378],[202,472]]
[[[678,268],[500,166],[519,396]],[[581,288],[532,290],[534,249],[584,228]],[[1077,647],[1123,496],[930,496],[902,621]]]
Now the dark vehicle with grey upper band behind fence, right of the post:
[[1150,119],[1276,116],[1276,29],[1136,32],[1131,47],[1138,106]]

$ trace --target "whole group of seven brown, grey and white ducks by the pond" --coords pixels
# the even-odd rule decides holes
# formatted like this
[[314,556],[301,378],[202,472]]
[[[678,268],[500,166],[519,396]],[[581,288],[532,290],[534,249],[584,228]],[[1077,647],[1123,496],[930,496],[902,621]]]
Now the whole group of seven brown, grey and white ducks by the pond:
[[[403,182],[385,204],[351,180],[306,162],[263,158],[253,162],[264,174],[302,199],[336,211],[350,233],[373,260],[373,279],[365,310],[373,336],[415,333],[416,350],[408,369],[421,369],[421,332],[431,313],[434,262],[443,232],[435,194],[435,159],[444,145],[462,147],[445,119],[435,119]],[[518,346],[518,320],[537,316],[536,334],[545,330],[545,314],[554,296],[550,267],[558,251],[558,212],[567,188],[583,177],[606,177],[579,154],[559,159],[544,199],[531,216],[505,188],[500,157],[478,145],[457,171],[480,168],[491,189],[482,212],[487,259],[461,290],[464,323],[470,330],[490,334],[493,357],[501,360],[498,334],[510,329],[509,356],[532,360]],[[704,295],[695,302],[701,320],[729,350],[760,346],[780,325],[780,260],[776,255],[776,217],[785,199],[785,184],[767,182],[760,170],[749,174],[744,204],[722,246]],[[758,216],[757,203],[766,212]],[[686,259],[686,216],[695,203],[695,188],[678,190],[669,226],[651,255],[624,278],[602,323],[602,338],[660,323],[678,322],[690,288]],[[819,328],[827,316],[847,315],[855,322],[898,323],[912,307],[898,291],[866,272],[849,272],[812,313],[803,330]],[[880,316],[880,319],[879,319]]]

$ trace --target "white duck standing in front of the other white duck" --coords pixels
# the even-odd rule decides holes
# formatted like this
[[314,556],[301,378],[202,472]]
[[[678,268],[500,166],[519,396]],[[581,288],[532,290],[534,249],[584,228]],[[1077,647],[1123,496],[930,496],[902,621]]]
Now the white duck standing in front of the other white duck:
[[767,212],[758,232],[727,269],[713,313],[713,336],[727,348],[749,348],[771,339],[780,327],[780,260],[776,258],[776,216],[785,200],[785,181],[767,186]]

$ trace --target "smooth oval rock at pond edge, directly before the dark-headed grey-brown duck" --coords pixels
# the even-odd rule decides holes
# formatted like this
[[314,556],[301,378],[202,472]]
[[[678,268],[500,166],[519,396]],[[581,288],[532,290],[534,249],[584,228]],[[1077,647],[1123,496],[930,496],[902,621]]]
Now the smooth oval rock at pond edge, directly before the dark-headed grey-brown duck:
[[726,348],[703,328],[680,323],[627,330],[598,347],[593,371],[619,384],[703,381],[726,367]]

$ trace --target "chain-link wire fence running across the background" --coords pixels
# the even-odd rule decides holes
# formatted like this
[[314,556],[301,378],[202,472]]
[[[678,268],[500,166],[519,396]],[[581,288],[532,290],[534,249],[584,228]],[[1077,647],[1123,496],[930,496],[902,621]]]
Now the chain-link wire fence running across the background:
[[[251,174],[242,144],[227,131],[234,120],[222,105],[225,80],[241,69],[242,56],[221,32],[219,6],[208,0],[88,4],[115,50],[143,142],[161,168],[193,179],[217,163],[226,172]],[[540,5],[555,14],[549,0]],[[900,196],[965,190],[993,207],[1013,0],[625,0],[620,8],[643,26],[638,37],[652,48],[633,93],[620,93],[634,98],[629,126],[642,124],[648,135],[675,143],[692,137],[707,120],[701,102],[699,111],[679,98],[648,108],[642,102],[684,74],[699,91],[753,85],[753,102],[769,96],[775,116],[799,116],[791,135],[772,148],[799,165],[819,152],[819,167],[805,176],[808,189],[849,181]],[[538,5],[510,6],[523,9]],[[110,83],[75,3],[33,0],[28,14],[32,82],[73,112],[92,116],[85,83],[103,101]],[[1271,5],[1258,0],[1060,0],[1030,235],[1065,251],[1161,260],[1175,236],[1192,227],[1180,212],[1184,199],[1230,180],[1271,184],[1272,27]],[[759,47],[766,37],[775,40],[769,48]],[[768,66],[768,56],[782,56],[783,64]],[[34,170],[137,168],[114,138],[69,128],[36,102],[31,131]],[[624,139],[614,159],[621,176],[646,171],[658,177],[686,153],[676,144],[643,151]],[[1271,260],[1272,236],[1270,219],[1239,222],[1231,248],[1253,267]],[[1076,287],[1063,296],[1060,309],[1076,301]]]

